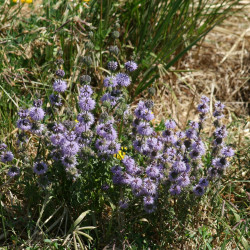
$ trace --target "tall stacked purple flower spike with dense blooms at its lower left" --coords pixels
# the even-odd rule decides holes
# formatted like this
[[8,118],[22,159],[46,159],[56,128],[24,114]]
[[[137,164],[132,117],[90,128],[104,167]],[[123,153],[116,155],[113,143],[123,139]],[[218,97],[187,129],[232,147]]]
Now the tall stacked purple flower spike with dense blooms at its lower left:
[[95,101],[91,98],[92,94],[93,90],[89,85],[81,87],[79,95],[81,113],[77,115],[78,122],[73,128],[62,123],[55,124],[50,134],[53,146],[52,159],[61,162],[68,171],[73,169],[77,171],[77,157],[89,147],[92,141],[90,130],[95,122],[90,112],[95,107]]

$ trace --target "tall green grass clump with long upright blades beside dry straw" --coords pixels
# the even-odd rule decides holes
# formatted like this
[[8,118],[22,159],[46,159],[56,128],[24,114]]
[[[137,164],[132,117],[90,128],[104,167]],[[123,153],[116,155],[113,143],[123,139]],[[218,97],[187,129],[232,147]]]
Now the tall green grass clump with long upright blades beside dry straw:
[[[98,27],[102,40],[112,32],[110,27],[116,18],[123,24],[122,28],[117,28],[121,36],[120,47],[140,64],[133,76],[136,80],[134,98],[170,67],[177,66],[188,50],[232,13],[239,1],[138,0],[113,3],[103,0],[96,4],[93,1],[93,16],[98,16],[100,21],[92,18],[92,22]],[[131,50],[131,44],[134,50]]]

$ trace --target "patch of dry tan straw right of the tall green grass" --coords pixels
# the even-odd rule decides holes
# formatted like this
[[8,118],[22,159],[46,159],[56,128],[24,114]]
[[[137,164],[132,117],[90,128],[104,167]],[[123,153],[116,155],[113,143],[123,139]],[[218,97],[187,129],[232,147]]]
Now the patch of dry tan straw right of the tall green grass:
[[250,7],[215,27],[188,52],[178,70],[168,72],[158,85],[155,98],[158,120],[173,116],[181,127],[194,118],[193,110],[202,95],[212,103],[220,100],[227,106],[229,122],[232,113],[249,114],[250,83]]

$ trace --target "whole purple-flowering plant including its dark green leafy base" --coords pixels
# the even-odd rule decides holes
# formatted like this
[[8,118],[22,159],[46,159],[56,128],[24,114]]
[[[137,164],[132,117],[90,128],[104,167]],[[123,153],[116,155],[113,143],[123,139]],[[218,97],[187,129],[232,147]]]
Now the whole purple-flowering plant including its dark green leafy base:
[[[197,121],[185,130],[173,119],[155,125],[152,100],[139,101],[134,110],[128,104],[127,87],[137,67],[128,61],[116,73],[118,62],[109,61],[101,89],[91,86],[89,75],[81,75],[73,100],[67,100],[70,86],[59,67],[49,102],[36,99],[32,107],[19,109],[16,153],[1,144],[6,174],[40,195],[49,191],[69,207],[77,204],[76,211],[93,202],[102,209],[105,201],[98,203],[98,195],[107,191],[119,209],[136,206],[156,214],[160,195],[201,197],[234,155],[225,143],[224,105],[215,103],[212,125],[207,124],[205,96]],[[203,132],[205,126],[214,127],[211,137]]]

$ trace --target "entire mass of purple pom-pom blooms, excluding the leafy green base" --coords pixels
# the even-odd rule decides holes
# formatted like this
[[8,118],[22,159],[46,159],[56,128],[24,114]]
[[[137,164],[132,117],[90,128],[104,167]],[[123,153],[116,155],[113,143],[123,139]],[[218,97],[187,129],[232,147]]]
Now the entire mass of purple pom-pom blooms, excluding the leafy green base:
[[[108,64],[111,75],[103,81],[102,105],[96,105],[99,95],[95,99],[89,85],[91,78],[82,76],[78,102],[80,112],[74,116],[68,109],[70,120],[60,122],[59,115],[57,122],[50,120],[51,123],[45,127],[41,122],[45,117],[41,100],[34,101],[30,109],[19,110],[17,127],[21,134],[25,136],[28,132],[26,134],[40,136],[44,139],[42,145],[48,146],[50,151],[48,159],[43,157],[34,162],[33,172],[39,179],[49,177],[48,173],[55,168],[56,171],[64,169],[72,174],[75,181],[83,173],[83,165],[112,164],[113,183],[120,185],[124,194],[119,202],[120,208],[128,207],[126,197],[134,197],[141,200],[148,213],[155,211],[160,190],[176,197],[190,191],[195,196],[202,196],[209,183],[228,168],[229,158],[234,155],[233,149],[225,144],[227,130],[221,125],[224,105],[220,102],[215,104],[212,149],[202,133],[209,113],[209,99],[205,96],[197,108],[198,121],[190,121],[185,130],[179,130],[179,124],[169,119],[163,131],[159,132],[152,122],[154,103],[151,100],[139,101],[135,109],[126,105],[125,87],[131,84],[126,73],[136,70],[137,64],[129,61],[125,63],[126,73],[114,74],[117,65],[115,61]],[[54,108],[62,105],[61,93],[67,89],[66,82],[61,79],[63,76],[64,72],[56,71],[55,92],[49,97]],[[0,153],[3,163],[14,158],[5,144],[0,144]],[[207,163],[208,158],[212,159],[211,163]],[[14,177],[19,173],[19,168],[12,166],[8,175]],[[103,178],[106,176],[105,173]],[[107,180],[102,181],[106,183]],[[108,188],[103,187],[103,190]]]

